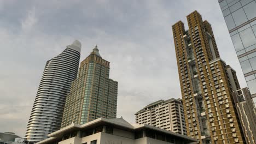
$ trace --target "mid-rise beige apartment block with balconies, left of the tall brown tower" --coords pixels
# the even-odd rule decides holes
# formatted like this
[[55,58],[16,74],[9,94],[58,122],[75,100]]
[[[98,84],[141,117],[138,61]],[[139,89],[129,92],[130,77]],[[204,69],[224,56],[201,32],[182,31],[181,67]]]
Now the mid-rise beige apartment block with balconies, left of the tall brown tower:
[[137,124],[148,124],[153,127],[187,135],[184,111],[181,99],[158,100],[135,113]]

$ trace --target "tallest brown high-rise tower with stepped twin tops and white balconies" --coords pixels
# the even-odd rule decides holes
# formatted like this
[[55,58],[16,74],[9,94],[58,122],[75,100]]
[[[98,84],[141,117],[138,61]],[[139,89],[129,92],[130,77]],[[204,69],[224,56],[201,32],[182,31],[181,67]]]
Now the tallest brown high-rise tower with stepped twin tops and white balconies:
[[232,92],[240,88],[235,71],[220,59],[210,23],[197,11],[188,31],[172,26],[187,135],[200,143],[245,143]]

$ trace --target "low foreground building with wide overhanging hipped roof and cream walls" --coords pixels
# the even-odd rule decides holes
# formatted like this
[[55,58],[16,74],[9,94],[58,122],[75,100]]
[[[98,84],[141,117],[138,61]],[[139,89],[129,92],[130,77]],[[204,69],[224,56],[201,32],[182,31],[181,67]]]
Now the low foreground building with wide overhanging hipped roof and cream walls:
[[197,142],[188,136],[152,127],[131,124],[123,118],[98,118],[86,124],[71,124],[38,144],[185,144]]

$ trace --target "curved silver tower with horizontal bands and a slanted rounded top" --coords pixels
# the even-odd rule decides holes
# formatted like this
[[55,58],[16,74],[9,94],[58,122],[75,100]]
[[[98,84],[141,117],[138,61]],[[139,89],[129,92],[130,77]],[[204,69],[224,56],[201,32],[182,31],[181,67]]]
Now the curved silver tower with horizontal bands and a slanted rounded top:
[[77,77],[81,43],[77,40],[46,62],[27,124],[26,139],[36,143],[61,128],[66,96]]

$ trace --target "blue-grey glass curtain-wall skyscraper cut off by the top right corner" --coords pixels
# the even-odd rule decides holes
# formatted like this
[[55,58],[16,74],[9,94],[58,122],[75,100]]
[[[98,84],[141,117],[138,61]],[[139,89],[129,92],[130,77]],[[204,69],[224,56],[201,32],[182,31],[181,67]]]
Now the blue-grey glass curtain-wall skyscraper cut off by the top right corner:
[[256,1],[218,2],[256,106]]

